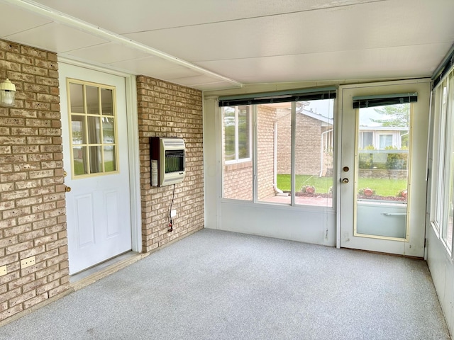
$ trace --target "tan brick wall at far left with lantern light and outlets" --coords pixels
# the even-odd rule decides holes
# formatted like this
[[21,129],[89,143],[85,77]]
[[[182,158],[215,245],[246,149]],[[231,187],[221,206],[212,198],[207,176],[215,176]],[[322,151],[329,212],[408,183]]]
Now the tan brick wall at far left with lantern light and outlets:
[[0,322],[69,288],[57,56],[0,40],[6,78],[17,91],[0,108]]

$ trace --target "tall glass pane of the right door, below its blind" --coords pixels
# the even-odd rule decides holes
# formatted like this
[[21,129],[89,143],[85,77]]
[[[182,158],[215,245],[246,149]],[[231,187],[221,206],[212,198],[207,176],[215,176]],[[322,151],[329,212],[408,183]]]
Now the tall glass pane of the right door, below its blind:
[[[356,233],[406,238],[410,104],[358,111]],[[372,144],[360,143],[372,133]]]

